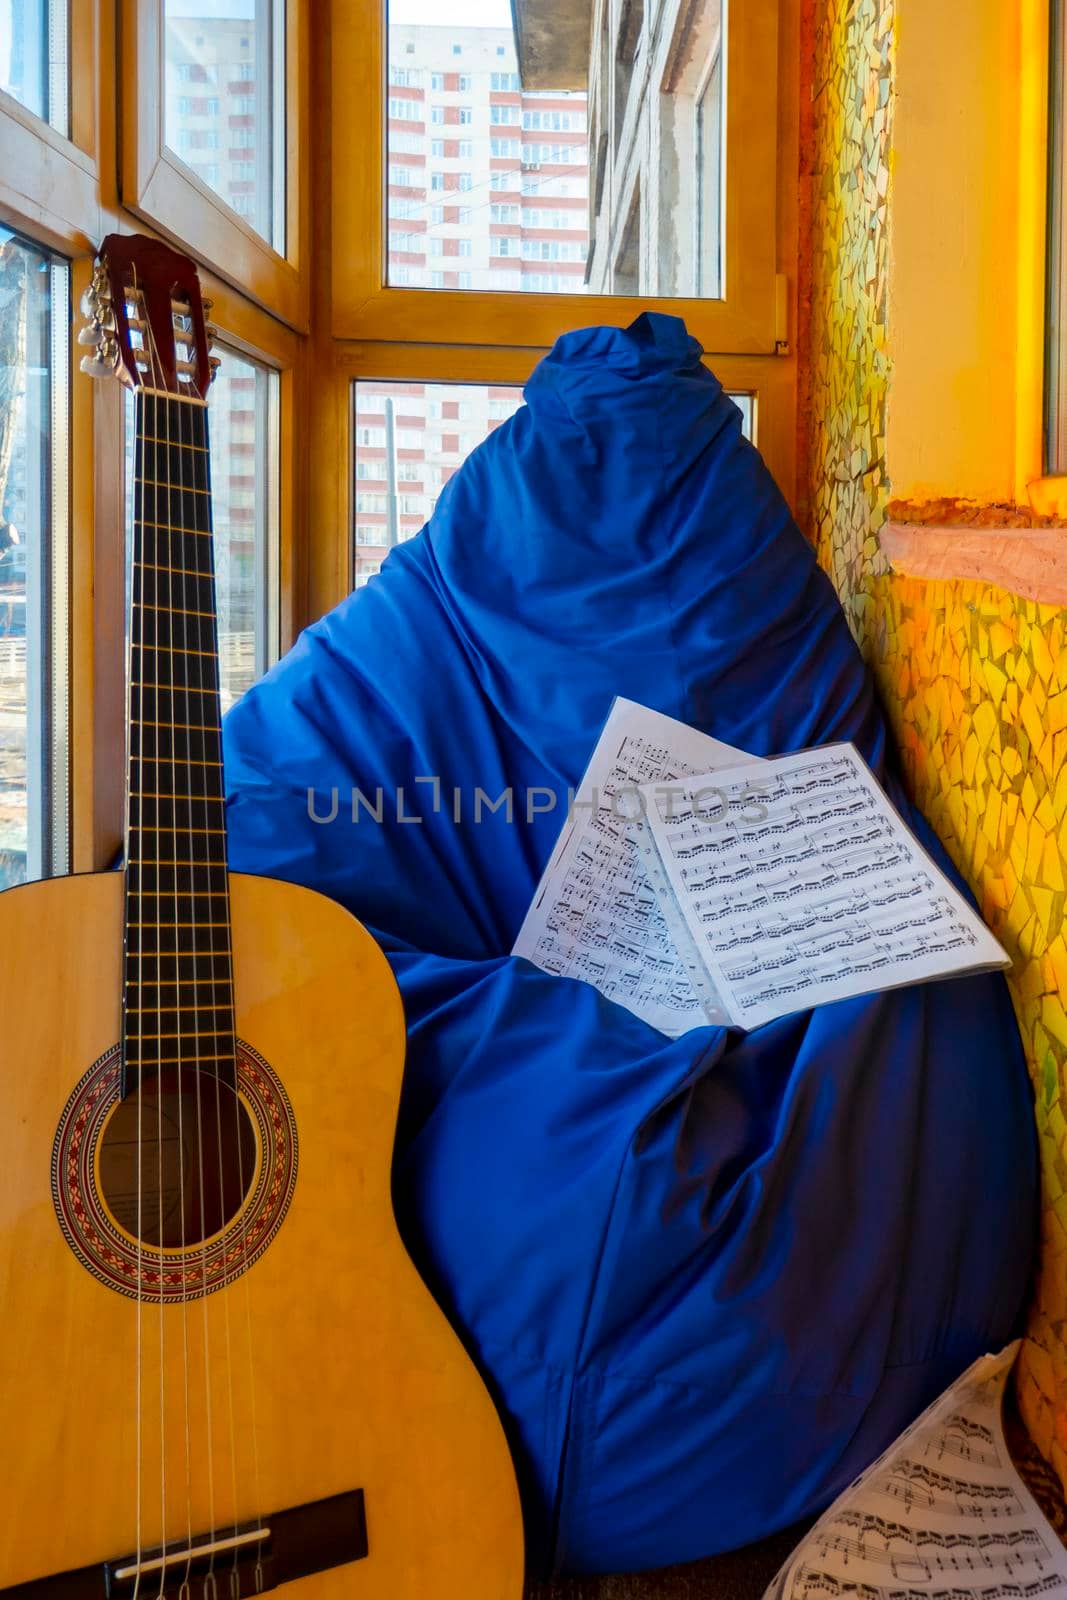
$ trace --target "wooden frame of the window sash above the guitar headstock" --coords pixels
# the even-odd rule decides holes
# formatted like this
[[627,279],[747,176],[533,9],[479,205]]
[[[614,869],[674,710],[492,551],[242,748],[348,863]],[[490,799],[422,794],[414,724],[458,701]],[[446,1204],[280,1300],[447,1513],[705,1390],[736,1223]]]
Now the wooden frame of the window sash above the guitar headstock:
[[309,14],[283,0],[285,254],[216,195],[163,138],[163,0],[122,0],[122,202],[179,250],[291,328],[310,315]]

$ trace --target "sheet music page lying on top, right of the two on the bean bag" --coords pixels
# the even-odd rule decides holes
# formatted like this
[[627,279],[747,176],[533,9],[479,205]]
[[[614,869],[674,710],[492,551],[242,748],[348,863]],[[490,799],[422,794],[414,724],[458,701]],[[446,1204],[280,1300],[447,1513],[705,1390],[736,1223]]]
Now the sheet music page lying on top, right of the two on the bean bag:
[[851,744],[641,790],[734,1026],[1009,958]]

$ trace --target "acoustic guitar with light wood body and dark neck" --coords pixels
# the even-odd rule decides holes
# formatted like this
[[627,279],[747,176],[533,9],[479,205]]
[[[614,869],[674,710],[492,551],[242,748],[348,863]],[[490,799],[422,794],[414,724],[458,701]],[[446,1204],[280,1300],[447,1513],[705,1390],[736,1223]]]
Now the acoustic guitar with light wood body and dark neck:
[[227,872],[195,269],[112,235],[83,310],[136,397],[126,854],[0,894],[0,1590],[518,1600],[501,1424],[394,1222],[389,965]]

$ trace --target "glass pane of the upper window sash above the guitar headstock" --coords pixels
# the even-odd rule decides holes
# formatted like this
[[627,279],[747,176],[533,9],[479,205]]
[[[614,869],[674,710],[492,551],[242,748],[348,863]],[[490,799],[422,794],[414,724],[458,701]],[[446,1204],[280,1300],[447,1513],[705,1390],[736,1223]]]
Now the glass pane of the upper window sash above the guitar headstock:
[[171,150],[285,250],[283,0],[165,0]]

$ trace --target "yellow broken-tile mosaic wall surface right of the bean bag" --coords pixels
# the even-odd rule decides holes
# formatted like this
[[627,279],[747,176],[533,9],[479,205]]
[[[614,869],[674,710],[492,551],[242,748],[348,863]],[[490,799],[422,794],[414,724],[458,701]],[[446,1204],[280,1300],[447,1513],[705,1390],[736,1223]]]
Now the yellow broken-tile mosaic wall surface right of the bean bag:
[[886,573],[894,0],[808,0],[805,21],[801,518],[875,670],[912,794],[1014,958],[1043,1166],[1019,1397],[1067,1488],[1067,613]]

